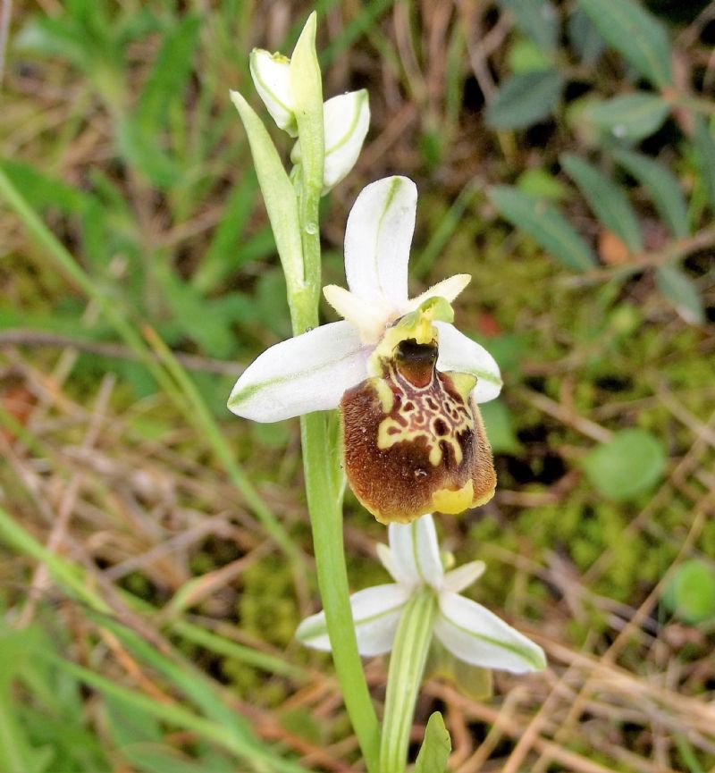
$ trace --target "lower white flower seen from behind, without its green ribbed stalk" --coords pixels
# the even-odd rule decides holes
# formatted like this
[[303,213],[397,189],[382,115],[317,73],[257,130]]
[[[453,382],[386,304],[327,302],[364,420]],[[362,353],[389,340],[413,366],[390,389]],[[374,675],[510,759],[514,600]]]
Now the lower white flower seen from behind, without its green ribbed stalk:
[[[409,525],[391,524],[388,539],[390,547],[378,544],[377,555],[395,582],[350,596],[361,655],[371,657],[391,651],[408,601],[428,589],[437,602],[433,636],[458,660],[515,674],[545,668],[541,647],[489,609],[459,595],[482,576],[484,561],[471,561],[445,573],[431,515]],[[303,620],[296,636],[315,650],[331,649],[324,612]]]

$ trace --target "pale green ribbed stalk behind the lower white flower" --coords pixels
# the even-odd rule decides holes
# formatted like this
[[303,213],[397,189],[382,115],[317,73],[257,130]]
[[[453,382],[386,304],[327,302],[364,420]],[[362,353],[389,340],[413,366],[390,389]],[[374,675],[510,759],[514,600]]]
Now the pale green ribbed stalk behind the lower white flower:
[[404,773],[409,732],[429,652],[437,598],[425,588],[408,601],[392,645],[380,747],[380,773]]

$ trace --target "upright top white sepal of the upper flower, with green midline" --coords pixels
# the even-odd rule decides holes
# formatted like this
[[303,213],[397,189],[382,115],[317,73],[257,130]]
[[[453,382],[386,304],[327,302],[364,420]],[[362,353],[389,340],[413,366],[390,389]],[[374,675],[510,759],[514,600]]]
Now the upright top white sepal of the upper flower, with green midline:
[[360,192],[345,231],[345,273],[356,295],[405,306],[416,209],[416,185],[407,177],[386,177]]

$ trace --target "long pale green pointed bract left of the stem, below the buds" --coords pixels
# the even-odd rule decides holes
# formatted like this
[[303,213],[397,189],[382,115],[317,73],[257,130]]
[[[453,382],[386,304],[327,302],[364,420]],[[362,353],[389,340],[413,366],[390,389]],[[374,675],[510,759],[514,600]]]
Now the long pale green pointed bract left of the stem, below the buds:
[[[300,242],[298,200],[283,168],[278,151],[256,111],[238,91],[231,91],[231,99],[248,134],[253,163],[256,165],[258,184],[265,201],[268,219],[273,226],[275,246],[281,256],[283,272],[288,284],[303,284],[303,248]],[[322,180],[322,176],[321,176]]]

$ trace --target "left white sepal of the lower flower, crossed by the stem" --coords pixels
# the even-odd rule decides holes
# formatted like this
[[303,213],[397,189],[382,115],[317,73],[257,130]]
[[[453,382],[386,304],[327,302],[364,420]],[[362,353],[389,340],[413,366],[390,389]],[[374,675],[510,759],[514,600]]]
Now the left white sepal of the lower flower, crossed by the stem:
[[[375,585],[350,596],[357,651],[365,657],[389,652],[409,592],[400,585]],[[325,613],[318,612],[298,626],[296,637],[314,650],[330,651]]]

